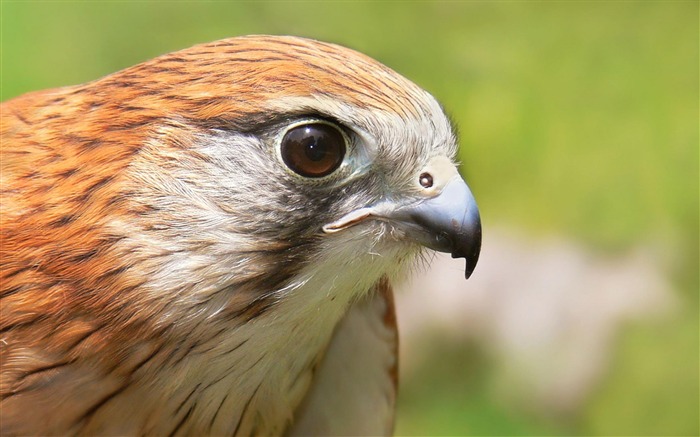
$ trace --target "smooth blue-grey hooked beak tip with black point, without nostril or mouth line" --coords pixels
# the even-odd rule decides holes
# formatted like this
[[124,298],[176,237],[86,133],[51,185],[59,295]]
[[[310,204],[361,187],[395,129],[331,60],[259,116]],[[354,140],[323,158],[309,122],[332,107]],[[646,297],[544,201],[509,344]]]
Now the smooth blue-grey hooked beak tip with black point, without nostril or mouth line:
[[391,216],[418,243],[452,258],[465,258],[464,275],[471,276],[481,251],[481,218],[461,177],[452,178],[437,196],[401,206]]

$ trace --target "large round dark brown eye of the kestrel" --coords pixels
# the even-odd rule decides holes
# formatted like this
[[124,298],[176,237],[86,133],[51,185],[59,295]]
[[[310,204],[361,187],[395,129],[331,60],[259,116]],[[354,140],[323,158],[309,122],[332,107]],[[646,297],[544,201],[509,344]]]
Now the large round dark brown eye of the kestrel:
[[345,157],[345,137],[330,124],[309,123],[293,127],[280,145],[282,160],[293,172],[310,178],[333,173]]

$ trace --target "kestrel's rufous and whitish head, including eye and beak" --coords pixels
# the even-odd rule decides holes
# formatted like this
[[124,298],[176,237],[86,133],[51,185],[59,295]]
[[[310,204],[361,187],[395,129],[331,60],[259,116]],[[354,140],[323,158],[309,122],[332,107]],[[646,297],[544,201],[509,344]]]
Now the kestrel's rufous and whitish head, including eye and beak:
[[[135,75],[149,80],[134,87]],[[149,114],[140,122],[152,131],[141,150],[148,159],[131,172],[143,187],[137,201],[159,220],[173,197],[200,202],[187,232],[201,234],[161,223],[173,238],[224,252],[288,246],[278,262],[297,266],[339,248],[348,262],[368,253],[395,262],[427,246],[465,257],[471,274],[479,215],[453,163],[450,122],[430,94],[378,62],[332,44],[253,36],[102,81],[127,84],[124,100]],[[173,149],[183,156],[173,160]],[[149,179],[149,167],[161,180]]]

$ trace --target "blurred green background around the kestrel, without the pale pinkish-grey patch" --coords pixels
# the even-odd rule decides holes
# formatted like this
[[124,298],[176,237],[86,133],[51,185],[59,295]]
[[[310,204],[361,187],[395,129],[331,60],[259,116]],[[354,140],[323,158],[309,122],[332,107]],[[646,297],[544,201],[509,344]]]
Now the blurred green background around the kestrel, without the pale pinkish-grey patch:
[[444,104],[485,223],[601,257],[654,248],[680,309],[628,326],[578,410],[501,402],[478,346],[435,346],[402,381],[398,434],[700,434],[698,2],[0,4],[3,100],[235,35],[336,42]]

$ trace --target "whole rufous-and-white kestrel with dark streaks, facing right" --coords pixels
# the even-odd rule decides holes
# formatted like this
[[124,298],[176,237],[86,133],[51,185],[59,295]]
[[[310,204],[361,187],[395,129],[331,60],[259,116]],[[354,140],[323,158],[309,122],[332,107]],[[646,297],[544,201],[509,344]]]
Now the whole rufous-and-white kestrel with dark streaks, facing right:
[[393,432],[392,283],[481,247],[431,94],[251,35],[1,109],[2,435]]

